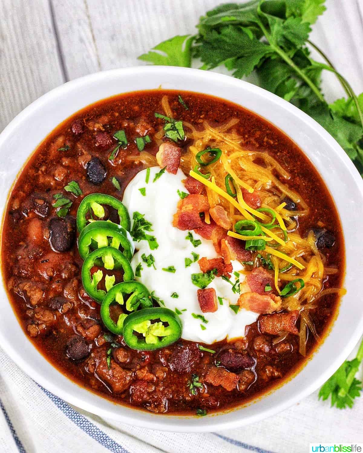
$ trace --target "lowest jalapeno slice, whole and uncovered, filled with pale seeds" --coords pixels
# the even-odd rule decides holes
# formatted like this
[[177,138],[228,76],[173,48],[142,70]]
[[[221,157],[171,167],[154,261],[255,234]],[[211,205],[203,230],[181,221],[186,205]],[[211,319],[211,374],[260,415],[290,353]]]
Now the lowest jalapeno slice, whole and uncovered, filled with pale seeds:
[[[142,337],[136,334],[142,334]],[[169,308],[144,308],[129,314],[123,322],[125,343],[139,351],[166,347],[175,343],[181,335],[182,321]]]

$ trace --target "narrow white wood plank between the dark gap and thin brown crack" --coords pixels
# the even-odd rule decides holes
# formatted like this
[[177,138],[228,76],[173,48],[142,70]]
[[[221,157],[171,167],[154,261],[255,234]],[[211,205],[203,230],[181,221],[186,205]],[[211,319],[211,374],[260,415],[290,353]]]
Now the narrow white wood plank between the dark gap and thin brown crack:
[[[59,48],[68,80],[101,71],[88,4],[82,0],[50,0]],[[102,7],[99,5],[99,7]]]

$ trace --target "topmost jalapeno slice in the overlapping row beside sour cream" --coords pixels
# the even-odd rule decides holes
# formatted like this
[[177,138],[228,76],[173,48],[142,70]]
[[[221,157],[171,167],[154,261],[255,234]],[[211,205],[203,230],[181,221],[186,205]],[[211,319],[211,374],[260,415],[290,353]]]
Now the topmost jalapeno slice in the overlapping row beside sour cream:
[[125,230],[130,231],[130,216],[128,215],[127,208],[123,205],[120,200],[111,195],[106,195],[105,193],[91,193],[84,197],[81,204],[78,207],[77,211],[77,228],[78,231],[82,231],[83,228],[87,225],[86,215],[90,212],[91,217],[102,218],[105,215],[103,205],[111,206],[118,212],[118,218],[120,220],[120,225],[125,228]]

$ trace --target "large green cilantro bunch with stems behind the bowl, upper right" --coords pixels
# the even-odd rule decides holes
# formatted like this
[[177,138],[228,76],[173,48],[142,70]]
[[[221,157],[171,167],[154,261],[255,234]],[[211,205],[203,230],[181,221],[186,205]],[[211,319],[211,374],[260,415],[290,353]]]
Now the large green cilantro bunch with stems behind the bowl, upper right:
[[[259,85],[318,121],[342,146],[363,176],[363,93],[347,80],[314,43],[311,25],[325,0],[251,0],[208,11],[193,36],[175,36],[139,58],[157,65],[190,67],[195,59],[208,70],[224,65],[242,78],[252,72]],[[314,48],[324,63],[310,56]],[[321,91],[322,71],[333,72],[347,97],[332,104]]]

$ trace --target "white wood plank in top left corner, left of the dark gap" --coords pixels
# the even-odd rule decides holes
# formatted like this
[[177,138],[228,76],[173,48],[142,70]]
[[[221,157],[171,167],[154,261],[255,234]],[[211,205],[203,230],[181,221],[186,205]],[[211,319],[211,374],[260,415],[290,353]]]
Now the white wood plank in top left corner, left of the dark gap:
[[0,1],[0,130],[64,82],[47,0]]

